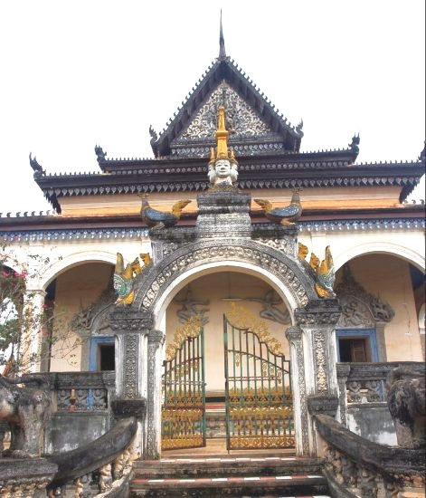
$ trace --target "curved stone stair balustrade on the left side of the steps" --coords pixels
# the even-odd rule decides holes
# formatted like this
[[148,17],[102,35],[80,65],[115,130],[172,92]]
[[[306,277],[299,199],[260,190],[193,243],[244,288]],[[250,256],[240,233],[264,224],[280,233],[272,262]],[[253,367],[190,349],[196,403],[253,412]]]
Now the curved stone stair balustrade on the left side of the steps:
[[71,451],[43,458],[0,458],[0,496],[15,498],[118,498],[128,493],[133,417]]

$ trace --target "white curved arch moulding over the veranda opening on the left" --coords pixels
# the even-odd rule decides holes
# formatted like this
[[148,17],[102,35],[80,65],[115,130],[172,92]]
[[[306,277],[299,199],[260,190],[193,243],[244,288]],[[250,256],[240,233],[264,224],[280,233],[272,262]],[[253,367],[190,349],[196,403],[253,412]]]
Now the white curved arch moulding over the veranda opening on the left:
[[39,274],[39,283],[41,288],[45,289],[61,273],[70,270],[75,266],[80,266],[84,263],[109,263],[115,266],[117,261],[116,253],[107,251],[82,251],[80,253],[72,253],[61,259],[57,259],[48,265]]

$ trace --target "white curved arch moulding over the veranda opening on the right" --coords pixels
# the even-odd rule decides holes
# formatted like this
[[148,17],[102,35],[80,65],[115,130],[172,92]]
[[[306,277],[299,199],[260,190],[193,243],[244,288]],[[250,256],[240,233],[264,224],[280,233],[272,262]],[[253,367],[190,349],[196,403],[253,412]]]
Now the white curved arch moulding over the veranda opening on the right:
[[[420,248],[422,248],[422,246]],[[346,249],[346,251],[340,254],[334,255],[336,271],[352,259],[366,254],[391,254],[402,258],[408,263],[412,263],[419,270],[421,270],[421,272],[425,272],[426,265],[424,253],[416,251],[403,244],[379,241],[357,244]]]

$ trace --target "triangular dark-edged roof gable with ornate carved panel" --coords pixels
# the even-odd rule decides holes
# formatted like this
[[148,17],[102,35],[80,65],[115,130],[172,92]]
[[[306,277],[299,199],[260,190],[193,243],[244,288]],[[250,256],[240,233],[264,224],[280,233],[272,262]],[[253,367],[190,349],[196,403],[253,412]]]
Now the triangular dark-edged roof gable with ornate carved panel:
[[160,136],[153,134],[156,157],[208,157],[217,128],[217,109],[226,109],[229,144],[237,156],[298,151],[302,123],[291,126],[229,58],[213,62]]

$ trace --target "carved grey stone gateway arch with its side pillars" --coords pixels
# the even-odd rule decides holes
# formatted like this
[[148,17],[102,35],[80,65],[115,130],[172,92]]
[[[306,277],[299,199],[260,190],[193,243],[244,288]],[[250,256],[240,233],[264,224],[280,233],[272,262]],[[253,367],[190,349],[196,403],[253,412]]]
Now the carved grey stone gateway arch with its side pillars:
[[310,413],[320,410],[336,414],[337,408],[334,333],[338,306],[336,300],[318,299],[315,280],[296,253],[296,230],[282,227],[274,235],[275,240],[265,241],[268,244],[248,237],[191,244],[154,241],[157,259],[138,280],[135,302],[111,315],[111,327],[118,338],[118,398],[126,403],[140,399],[143,404],[142,399],[147,400],[146,421],[141,422],[141,431],[146,431],[141,452],[147,457],[160,453],[161,364],[167,306],[195,275],[230,268],[258,275],[289,307],[292,326],[286,336],[295,393],[296,451],[298,455],[316,454]]

